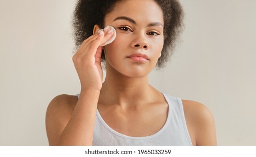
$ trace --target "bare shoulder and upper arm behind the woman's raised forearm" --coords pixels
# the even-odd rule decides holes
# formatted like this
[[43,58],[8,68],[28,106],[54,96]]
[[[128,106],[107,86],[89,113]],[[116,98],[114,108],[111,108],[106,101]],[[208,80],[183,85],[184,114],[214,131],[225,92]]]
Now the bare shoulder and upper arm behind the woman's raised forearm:
[[75,95],[59,95],[52,99],[46,111],[46,131],[50,145],[56,145],[77,104]]

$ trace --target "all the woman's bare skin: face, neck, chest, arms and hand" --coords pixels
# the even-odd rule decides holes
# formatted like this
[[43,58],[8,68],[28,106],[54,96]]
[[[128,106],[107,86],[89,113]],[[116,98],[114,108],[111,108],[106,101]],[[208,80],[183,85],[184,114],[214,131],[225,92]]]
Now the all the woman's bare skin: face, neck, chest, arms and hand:
[[[128,136],[158,132],[168,116],[162,93],[149,85],[163,49],[163,12],[152,0],[118,3],[105,17],[105,25],[116,29],[113,43],[100,47],[113,36],[110,29],[84,40],[73,57],[81,91],[59,95],[47,108],[46,130],[50,145],[92,145],[96,110],[115,131]],[[110,31],[110,32],[109,32]],[[102,84],[101,50],[105,51],[106,79]],[[131,59],[146,54],[146,61]],[[216,145],[212,114],[203,104],[182,100],[193,145]]]

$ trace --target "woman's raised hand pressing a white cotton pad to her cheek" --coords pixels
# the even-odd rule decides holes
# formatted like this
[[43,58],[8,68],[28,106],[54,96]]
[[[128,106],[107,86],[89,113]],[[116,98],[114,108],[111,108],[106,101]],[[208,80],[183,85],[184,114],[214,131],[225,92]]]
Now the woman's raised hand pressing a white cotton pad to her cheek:
[[103,71],[101,67],[102,45],[113,36],[109,27],[98,31],[80,45],[73,56],[75,69],[77,70],[81,90],[101,90]]

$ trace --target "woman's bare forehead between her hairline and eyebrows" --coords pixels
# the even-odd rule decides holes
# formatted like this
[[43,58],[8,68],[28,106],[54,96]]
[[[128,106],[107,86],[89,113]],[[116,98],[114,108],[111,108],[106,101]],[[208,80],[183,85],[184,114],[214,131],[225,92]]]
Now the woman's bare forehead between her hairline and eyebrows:
[[116,4],[113,11],[106,15],[105,20],[126,16],[136,22],[150,21],[164,24],[163,11],[154,0],[123,0]]

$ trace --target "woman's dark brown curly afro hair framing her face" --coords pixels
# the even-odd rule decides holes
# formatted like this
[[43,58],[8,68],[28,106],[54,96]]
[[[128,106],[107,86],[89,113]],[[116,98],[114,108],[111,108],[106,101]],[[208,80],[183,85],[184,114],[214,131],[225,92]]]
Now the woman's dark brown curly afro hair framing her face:
[[[78,0],[73,17],[74,39],[76,48],[93,34],[97,24],[104,28],[104,19],[122,0]],[[169,61],[177,44],[179,34],[183,30],[183,9],[178,0],[154,0],[164,14],[164,46],[156,66],[162,68]],[[105,61],[102,50],[102,62]]]

